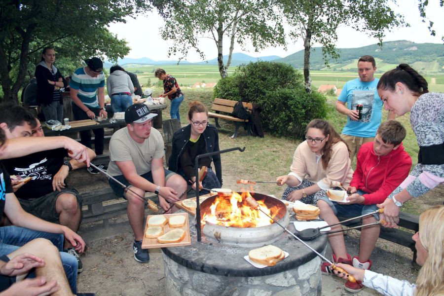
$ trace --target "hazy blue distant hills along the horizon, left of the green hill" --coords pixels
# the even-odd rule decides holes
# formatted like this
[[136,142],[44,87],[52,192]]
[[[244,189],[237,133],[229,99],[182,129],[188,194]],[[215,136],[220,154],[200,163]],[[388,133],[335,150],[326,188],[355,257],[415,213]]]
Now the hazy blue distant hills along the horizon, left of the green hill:
[[[261,61],[272,61],[272,60],[276,60],[276,59],[280,59],[281,57],[279,56],[265,56],[265,57],[259,57],[259,58],[255,58],[252,56],[249,56],[247,54],[244,53],[233,53],[232,57],[231,57],[231,66],[239,66],[240,64],[247,64],[249,62],[256,62],[258,60]],[[223,56],[223,61],[226,63],[228,59],[228,55],[224,55]],[[154,61],[151,60],[149,58],[139,58],[139,59],[133,59],[133,58],[123,58],[123,59],[118,59],[117,60],[117,64],[119,64],[120,66],[125,66],[125,65],[131,65],[131,66],[135,66],[135,65],[175,65],[177,64],[177,61]],[[197,63],[189,63],[187,61],[181,61],[181,64],[190,64],[190,65],[217,65],[218,64],[218,59],[212,59],[209,60],[208,63],[207,62],[197,62]],[[105,61],[105,69],[110,69],[110,67],[112,66],[112,64],[109,61]]]

